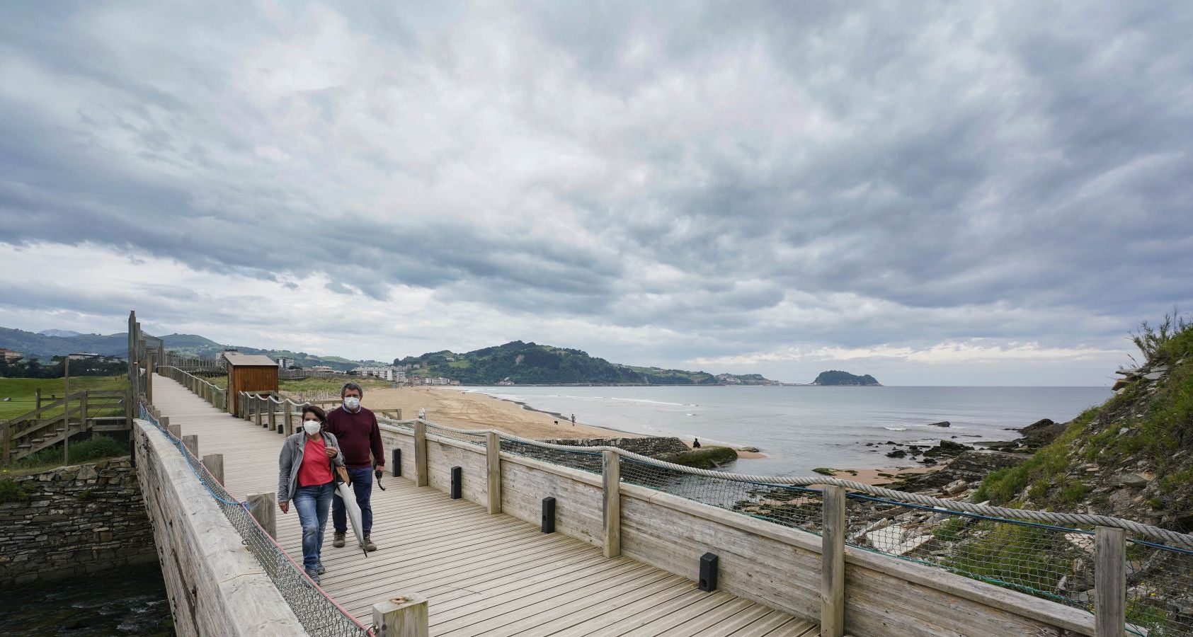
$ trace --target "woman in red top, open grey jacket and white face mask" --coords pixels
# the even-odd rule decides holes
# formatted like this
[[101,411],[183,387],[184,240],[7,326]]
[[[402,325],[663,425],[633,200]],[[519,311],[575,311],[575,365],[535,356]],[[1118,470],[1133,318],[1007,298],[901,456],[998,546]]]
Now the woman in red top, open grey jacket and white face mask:
[[295,503],[302,525],[302,565],[315,583],[327,570],[320,553],[335,491],[333,465],[344,464],[335,435],[323,431],[326,420],[319,407],[303,407],[302,431],[282,443],[278,456],[278,508],[290,513],[290,502]]

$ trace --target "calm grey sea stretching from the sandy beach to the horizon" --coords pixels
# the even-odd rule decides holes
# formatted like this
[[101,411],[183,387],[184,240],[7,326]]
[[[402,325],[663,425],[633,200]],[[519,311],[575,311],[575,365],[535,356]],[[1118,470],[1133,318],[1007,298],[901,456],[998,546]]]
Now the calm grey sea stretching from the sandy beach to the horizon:
[[[817,466],[911,465],[885,443],[1013,440],[1013,429],[1071,420],[1111,396],[1068,386],[490,386],[470,388],[576,421],[691,443],[756,446],[733,470],[809,475]],[[933,422],[950,426],[934,427]],[[867,443],[872,446],[867,446]]]

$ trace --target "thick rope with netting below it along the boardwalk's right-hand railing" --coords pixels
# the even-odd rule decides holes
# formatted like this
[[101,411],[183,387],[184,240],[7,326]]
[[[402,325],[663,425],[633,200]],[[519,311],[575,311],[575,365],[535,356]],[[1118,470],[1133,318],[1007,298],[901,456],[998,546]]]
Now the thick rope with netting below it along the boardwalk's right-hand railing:
[[[408,421],[403,428],[420,422]],[[496,433],[501,451],[589,472],[601,454],[620,457],[623,483],[799,528],[823,531],[822,490],[846,489],[846,543],[870,552],[1019,590],[1094,612],[1094,527],[1126,539],[1126,630],[1193,636],[1193,536],[1112,518],[994,507],[897,491],[828,476],[736,474],[668,463],[612,446],[543,443],[496,429],[459,429],[421,421],[428,437],[465,443]]]

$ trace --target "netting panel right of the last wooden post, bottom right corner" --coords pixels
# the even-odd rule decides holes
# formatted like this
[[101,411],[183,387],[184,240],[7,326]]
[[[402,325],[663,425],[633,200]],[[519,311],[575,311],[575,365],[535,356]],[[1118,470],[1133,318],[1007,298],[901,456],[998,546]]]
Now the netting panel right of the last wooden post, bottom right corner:
[[1129,539],[1126,624],[1131,635],[1193,635],[1193,551]]

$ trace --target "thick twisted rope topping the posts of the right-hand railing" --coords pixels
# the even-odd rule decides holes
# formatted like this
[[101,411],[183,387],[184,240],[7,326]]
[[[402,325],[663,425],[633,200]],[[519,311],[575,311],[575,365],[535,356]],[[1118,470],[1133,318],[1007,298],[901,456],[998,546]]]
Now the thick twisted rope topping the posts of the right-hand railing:
[[1124,520],[1121,518],[1111,518],[1109,515],[1088,515],[1080,513],[1057,513],[1050,511],[1032,511],[1022,508],[1008,508],[1008,507],[991,507],[988,505],[976,505],[971,502],[962,502],[958,500],[946,500],[942,497],[933,497],[929,495],[920,495],[914,493],[896,491],[895,489],[886,489],[883,487],[874,487],[872,484],[863,484],[860,482],[853,482],[851,480],[841,480],[828,476],[815,476],[815,477],[787,477],[787,476],[756,476],[749,474],[730,474],[727,471],[712,471],[709,469],[697,469],[694,466],[685,466],[682,464],[668,463],[651,458],[649,456],[642,456],[639,453],[633,453],[632,451],[625,451],[624,449],[612,447],[612,446],[577,446],[577,445],[556,445],[551,443],[543,443],[539,440],[531,440],[528,438],[520,438],[518,435],[512,435],[505,432],[497,432],[496,429],[456,429],[452,427],[446,427],[444,425],[433,425],[427,421],[424,423],[449,431],[455,433],[471,434],[471,435],[483,435],[489,432],[496,432],[503,439],[521,443],[524,445],[532,445],[543,449],[551,449],[556,451],[612,451],[618,456],[623,456],[643,464],[649,464],[661,469],[668,469],[670,471],[678,471],[681,474],[688,474],[693,476],[711,477],[717,480],[727,480],[731,482],[752,482],[752,483],[764,483],[764,484],[790,484],[793,487],[808,487],[810,484],[832,484],[834,487],[843,487],[851,491],[859,491],[870,495],[876,495],[885,497],[888,500],[895,500],[897,502],[911,502],[916,505],[923,505],[927,507],[940,508],[940,509],[952,509],[964,513],[975,513],[978,515],[987,515],[991,518],[1010,518],[1015,520],[1030,520],[1036,522],[1046,524],[1061,524],[1061,525],[1093,525],[1093,526],[1109,526],[1114,528],[1123,528],[1124,531],[1130,531],[1139,536],[1146,536],[1151,538],[1162,539],[1173,544],[1179,544],[1182,546],[1193,548],[1193,536],[1187,533],[1179,533],[1176,531],[1168,531],[1167,528],[1160,528],[1158,526],[1151,526],[1143,522],[1136,522],[1132,520]]

